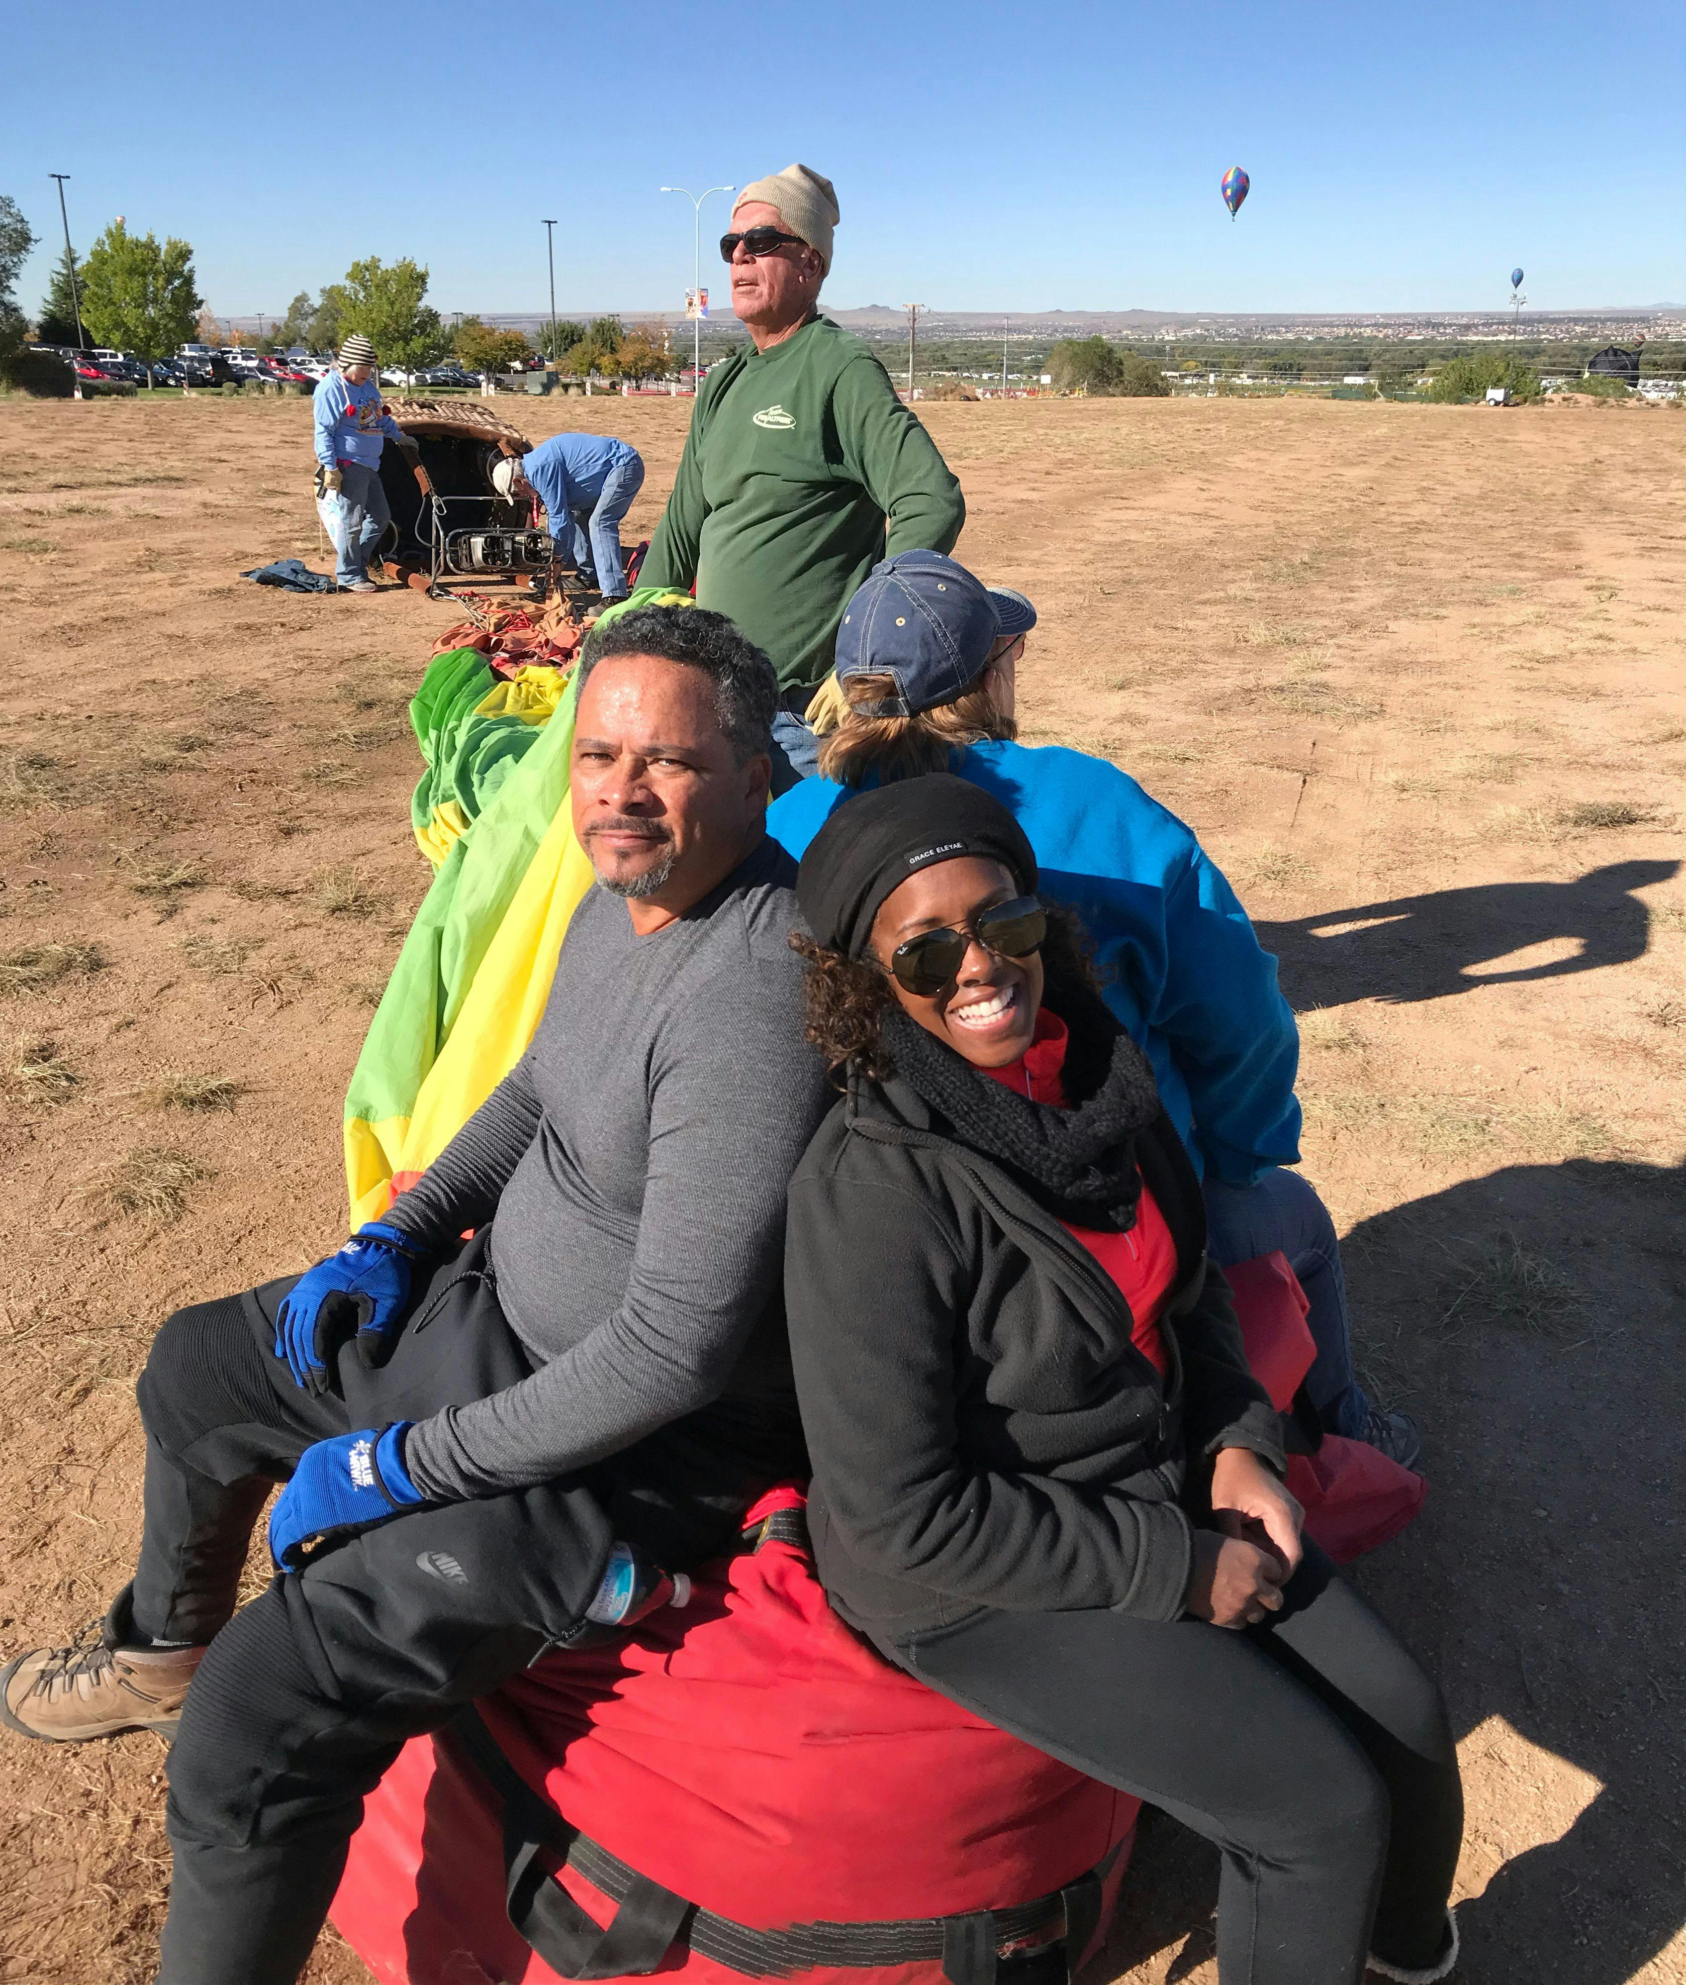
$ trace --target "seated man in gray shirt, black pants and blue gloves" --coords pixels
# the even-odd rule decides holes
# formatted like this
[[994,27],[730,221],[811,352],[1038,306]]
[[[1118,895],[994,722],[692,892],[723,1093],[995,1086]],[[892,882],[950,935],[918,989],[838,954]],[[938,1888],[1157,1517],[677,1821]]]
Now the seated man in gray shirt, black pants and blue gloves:
[[[135,1580],[0,1671],[28,1737],[179,1729],[161,1985],[290,1985],[407,1737],[665,1602],[804,1473],[784,1187],[826,1098],[765,832],[773,669],[683,607],[580,669],[598,887],[530,1050],[350,1247],[163,1326]],[[276,1481],[280,1576],[234,1614]]]

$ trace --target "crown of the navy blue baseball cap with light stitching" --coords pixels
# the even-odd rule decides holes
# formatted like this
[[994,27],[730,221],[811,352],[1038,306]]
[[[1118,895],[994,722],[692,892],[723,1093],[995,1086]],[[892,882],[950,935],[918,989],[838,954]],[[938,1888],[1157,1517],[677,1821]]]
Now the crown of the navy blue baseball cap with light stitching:
[[894,677],[896,697],[862,715],[912,717],[975,683],[999,633],[995,601],[965,566],[941,552],[898,552],[844,607],[838,679]]

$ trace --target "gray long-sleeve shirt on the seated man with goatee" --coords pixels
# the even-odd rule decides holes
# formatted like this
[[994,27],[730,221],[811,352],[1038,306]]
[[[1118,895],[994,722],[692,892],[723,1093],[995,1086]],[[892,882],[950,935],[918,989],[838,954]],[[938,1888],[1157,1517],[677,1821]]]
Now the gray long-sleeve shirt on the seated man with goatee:
[[778,1302],[784,1187],[826,1112],[794,879],[763,842],[649,937],[592,889],[532,1046],[393,1203],[439,1247],[491,1221],[498,1300],[538,1366],[417,1421],[425,1495],[550,1481],[757,1390],[737,1368]]

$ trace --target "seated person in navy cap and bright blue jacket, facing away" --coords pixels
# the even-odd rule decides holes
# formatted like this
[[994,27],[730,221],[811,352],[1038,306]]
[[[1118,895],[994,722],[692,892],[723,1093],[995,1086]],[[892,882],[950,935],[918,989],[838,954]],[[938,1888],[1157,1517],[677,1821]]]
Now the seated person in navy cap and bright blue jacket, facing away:
[[1090,931],[1108,1006],[1148,1054],[1201,1175],[1213,1258],[1281,1249],[1311,1304],[1307,1393],[1327,1431],[1416,1467],[1422,1437],[1352,1374],[1340,1243],[1299,1163],[1299,1028],[1277,961],[1194,832],[1118,766],[1015,742],[1017,665],[1037,609],[935,552],[872,570],[838,627],[848,715],[820,776],[774,800],[796,860],[852,792],[957,772],[993,792],[1037,852],[1043,887]]

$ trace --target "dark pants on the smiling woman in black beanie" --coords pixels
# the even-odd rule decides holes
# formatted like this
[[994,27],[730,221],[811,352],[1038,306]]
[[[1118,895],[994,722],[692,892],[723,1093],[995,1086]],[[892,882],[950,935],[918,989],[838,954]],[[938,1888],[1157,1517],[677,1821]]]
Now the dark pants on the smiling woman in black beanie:
[[884,1652],[1215,1842],[1223,1985],[1358,1985],[1370,1949],[1440,1955],[1464,1832],[1446,1709],[1315,1546],[1283,1612],[1239,1634],[985,1612]]

